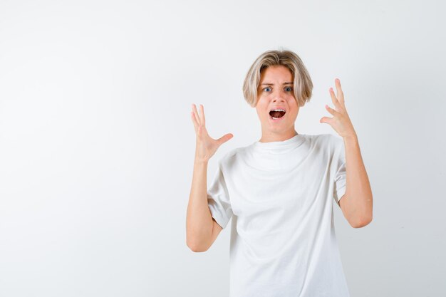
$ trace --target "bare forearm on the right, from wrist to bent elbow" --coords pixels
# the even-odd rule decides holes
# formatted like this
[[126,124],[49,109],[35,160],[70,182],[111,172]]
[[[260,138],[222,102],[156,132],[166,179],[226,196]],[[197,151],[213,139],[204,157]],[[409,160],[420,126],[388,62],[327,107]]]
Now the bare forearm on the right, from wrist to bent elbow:
[[358,137],[343,137],[346,150],[346,214],[358,226],[373,217],[373,196],[361,156]]

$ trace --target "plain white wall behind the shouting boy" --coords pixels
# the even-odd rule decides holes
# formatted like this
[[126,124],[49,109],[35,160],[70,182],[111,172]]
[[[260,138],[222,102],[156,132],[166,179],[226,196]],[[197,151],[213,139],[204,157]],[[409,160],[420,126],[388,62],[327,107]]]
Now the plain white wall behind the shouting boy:
[[[446,296],[442,1],[0,1],[0,296],[229,293],[229,229],[194,253],[192,103],[209,161],[259,140],[242,84],[269,49],[313,79],[296,131],[332,133],[340,78],[373,222],[335,204],[351,296]],[[339,136],[338,136],[339,137]]]

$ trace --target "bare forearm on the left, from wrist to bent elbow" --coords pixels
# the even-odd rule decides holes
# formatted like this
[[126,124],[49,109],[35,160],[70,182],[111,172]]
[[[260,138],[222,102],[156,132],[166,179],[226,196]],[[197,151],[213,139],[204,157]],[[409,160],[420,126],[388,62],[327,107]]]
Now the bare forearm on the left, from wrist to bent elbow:
[[212,237],[212,226],[212,215],[207,204],[207,162],[195,160],[187,205],[187,246],[195,251],[203,249]]

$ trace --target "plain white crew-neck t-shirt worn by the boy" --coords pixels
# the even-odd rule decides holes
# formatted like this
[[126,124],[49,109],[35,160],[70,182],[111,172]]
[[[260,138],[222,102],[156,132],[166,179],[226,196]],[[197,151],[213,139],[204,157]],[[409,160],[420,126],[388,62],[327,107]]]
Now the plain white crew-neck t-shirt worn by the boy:
[[220,226],[232,218],[230,297],[350,296],[333,224],[345,162],[331,134],[256,141],[219,160],[207,201]]

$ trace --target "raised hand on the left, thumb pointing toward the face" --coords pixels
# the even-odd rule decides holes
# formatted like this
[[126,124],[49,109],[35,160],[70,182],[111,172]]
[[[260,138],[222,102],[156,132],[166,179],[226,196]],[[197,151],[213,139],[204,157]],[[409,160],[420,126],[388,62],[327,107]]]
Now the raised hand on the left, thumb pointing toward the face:
[[194,123],[195,133],[197,135],[197,142],[195,147],[195,160],[207,162],[217,152],[217,149],[224,142],[230,140],[234,135],[228,133],[219,139],[215,140],[207,134],[206,122],[204,118],[203,105],[199,105],[200,114],[197,112],[197,107],[192,104],[192,123]]

